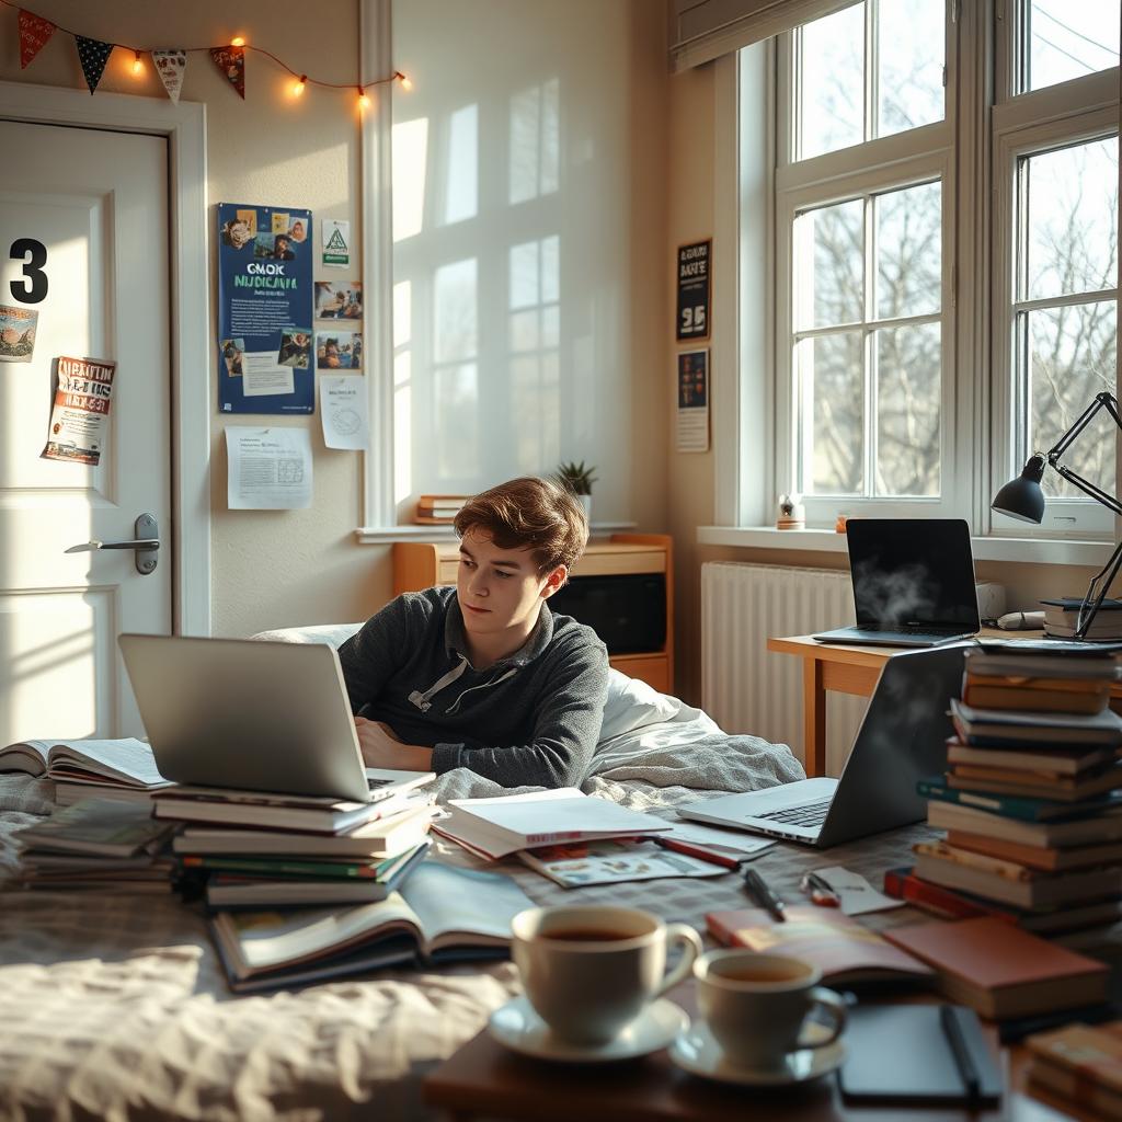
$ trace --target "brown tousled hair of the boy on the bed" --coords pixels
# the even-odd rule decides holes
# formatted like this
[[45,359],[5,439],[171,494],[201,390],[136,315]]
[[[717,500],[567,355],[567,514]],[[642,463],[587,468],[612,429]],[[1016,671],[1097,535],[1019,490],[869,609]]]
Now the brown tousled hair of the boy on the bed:
[[573,495],[536,476],[477,495],[460,508],[453,527],[460,537],[479,530],[500,550],[528,548],[542,573],[559,564],[572,569],[588,544],[588,519]]

